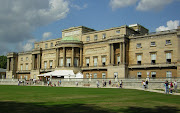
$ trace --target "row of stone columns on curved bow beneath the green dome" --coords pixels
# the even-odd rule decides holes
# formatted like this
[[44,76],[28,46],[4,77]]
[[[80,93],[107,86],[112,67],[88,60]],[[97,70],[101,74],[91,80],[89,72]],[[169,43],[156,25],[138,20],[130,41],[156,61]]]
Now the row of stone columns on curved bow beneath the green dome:
[[[60,48],[56,49],[56,67],[59,66]],[[82,48],[80,48],[80,67],[82,66]],[[74,66],[74,47],[72,47],[71,66]],[[63,67],[66,66],[66,47],[63,47]]]

